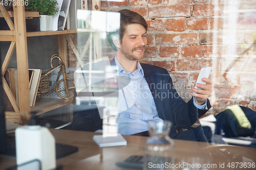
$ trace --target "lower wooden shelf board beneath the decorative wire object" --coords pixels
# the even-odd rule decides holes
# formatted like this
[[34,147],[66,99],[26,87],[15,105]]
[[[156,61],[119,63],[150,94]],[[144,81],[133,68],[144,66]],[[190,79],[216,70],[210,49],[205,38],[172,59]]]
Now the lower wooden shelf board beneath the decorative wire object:
[[35,103],[34,107],[31,107],[31,112],[37,112],[36,115],[48,112],[50,110],[71,104],[73,98],[71,99],[41,99],[39,102]]

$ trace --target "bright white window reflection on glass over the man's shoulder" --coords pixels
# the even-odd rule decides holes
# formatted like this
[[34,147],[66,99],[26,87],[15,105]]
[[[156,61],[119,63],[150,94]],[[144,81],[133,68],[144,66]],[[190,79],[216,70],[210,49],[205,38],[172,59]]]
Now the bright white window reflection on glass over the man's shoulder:
[[[77,19],[79,28],[88,28],[90,33],[77,38],[81,56],[76,64],[78,68],[74,76],[78,95],[76,102],[80,105],[82,103],[96,105],[99,108],[100,118],[103,119],[103,132],[115,133],[117,132],[117,97],[121,86],[118,87],[116,82],[117,68],[111,65],[108,57],[102,57],[102,46],[106,46],[107,33],[118,32],[120,14],[78,10]],[[84,46],[85,41],[87,43]]]

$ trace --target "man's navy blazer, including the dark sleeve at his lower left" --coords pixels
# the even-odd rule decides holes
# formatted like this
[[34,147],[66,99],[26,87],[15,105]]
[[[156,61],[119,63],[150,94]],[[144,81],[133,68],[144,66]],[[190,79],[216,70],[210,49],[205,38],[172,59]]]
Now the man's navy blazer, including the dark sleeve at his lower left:
[[[112,60],[111,64],[115,64],[115,61]],[[172,78],[170,78],[166,69],[150,64],[140,64],[144,71],[146,82],[151,89],[159,117],[172,122],[172,128],[170,129],[171,137],[176,138],[177,136],[175,126],[190,127],[200,116],[207,112],[207,110],[196,108],[193,99],[188,103],[183,101],[173,87]],[[92,113],[80,111],[81,108],[79,110],[76,107],[79,106],[74,106],[74,130],[96,131],[102,129],[102,119],[100,119],[98,113],[95,111]],[[207,100],[207,108],[209,109],[210,107]]]

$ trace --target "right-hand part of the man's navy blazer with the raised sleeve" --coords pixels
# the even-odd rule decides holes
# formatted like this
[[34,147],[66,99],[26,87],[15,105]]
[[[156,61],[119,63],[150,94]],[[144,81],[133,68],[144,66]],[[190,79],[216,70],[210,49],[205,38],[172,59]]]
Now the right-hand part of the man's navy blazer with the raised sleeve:
[[[208,111],[198,109],[193,103],[193,98],[187,103],[184,102],[173,87],[172,78],[170,78],[166,69],[143,63],[141,63],[141,67],[143,68],[146,82],[153,94],[159,117],[172,122],[170,134],[176,133],[175,126],[190,127]],[[159,89],[157,86],[154,86],[154,84],[156,85],[161,82],[163,88]],[[163,94],[162,96],[168,94],[168,96],[165,99],[161,99],[161,94]],[[209,109],[210,107],[210,103],[207,100],[207,108]]]

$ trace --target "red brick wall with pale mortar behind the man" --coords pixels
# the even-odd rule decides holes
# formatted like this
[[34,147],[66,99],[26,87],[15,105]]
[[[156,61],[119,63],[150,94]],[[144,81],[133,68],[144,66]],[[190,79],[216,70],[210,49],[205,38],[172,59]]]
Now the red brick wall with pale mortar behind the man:
[[[148,23],[147,51],[141,62],[166,68],[185,101],[191,98],[200,69],[212,66],[209,113],[233,104],[256,111],[254,0],[101,1],[101,11],[124,8],[138,12]],[[103,54],[114,55],[108,47]]]

